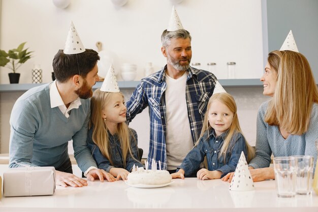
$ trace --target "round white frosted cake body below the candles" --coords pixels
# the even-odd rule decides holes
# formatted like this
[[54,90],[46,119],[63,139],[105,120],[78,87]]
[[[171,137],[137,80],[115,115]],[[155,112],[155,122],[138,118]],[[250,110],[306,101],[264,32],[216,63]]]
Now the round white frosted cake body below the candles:
[[128,174],[128,182],[131,185],[163,185],[170,183],[171,178],[171,175],[166,170],[138,169],[138,171]]

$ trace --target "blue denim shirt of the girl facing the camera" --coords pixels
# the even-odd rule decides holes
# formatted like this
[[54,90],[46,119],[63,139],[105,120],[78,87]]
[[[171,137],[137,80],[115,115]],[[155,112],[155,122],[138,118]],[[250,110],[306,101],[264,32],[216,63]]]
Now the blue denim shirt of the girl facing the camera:
[[224,157],[218,158],[218,156],[227,133],[228,131],[215,137],[214,129],[212,129],[209,133],[209,138],[207,138],[207,133],[204,134],[199,144],[187,154],[180,165],[180,168],[184,170],[185,176],[194,174],[194,172],[199,169],[200,163],[204,160],[204,156],[207,157],[208,170],[221,171],[221,177],[229,172],[235,171],[242,151],[244,152],[245,158],[247,158],[245,139],[239,132],[232,137],[224,162]]

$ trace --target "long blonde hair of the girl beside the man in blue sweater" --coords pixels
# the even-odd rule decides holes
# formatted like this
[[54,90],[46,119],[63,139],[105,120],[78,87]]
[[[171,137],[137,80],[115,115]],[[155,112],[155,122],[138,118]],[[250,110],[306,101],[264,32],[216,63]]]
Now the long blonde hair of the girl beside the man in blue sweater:
[[[102,92],[100,89],[96,89],[93,93],[93,96],[90,99],[91,116],[90,116],[89,128],[94,126],[94,130],[92,133],[92,140],[101,149],[102,154],[109,160],[109,162],[112,165],[113,165],[113,162],[112,162],[111,153],[110,153],[108,129],[102,115],[103,115],[104,104],[107,103],[116,94],[118,93]],[[119,93],[119,94],[123,98],[123,94],[122,93]],[[126,158],[128,154],[130,154],[134,158],[132,149],[131,149],[130,138],[132,137],[134,139],[134,142],[136,142],[136,146],[137,146],[137,141],[125,122],[119,123],[117,128],[118,128],[117,135],[119,138],[121,153],[122,153],[122,160],[123,160],[122,163],[123,163],[123,166],[126,167]]]

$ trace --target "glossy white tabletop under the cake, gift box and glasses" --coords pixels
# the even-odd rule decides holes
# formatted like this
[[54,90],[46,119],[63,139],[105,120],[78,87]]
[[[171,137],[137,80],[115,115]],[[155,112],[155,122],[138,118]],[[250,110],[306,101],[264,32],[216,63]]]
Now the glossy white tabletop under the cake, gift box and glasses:
[[0,211],[318,211],[318,196],[278,198],[275,180],[255,191],[230,192],[219,179],[173,179],[167,187],[138,189],[122,180],[90,182],[83,188],[57,187],[52,196],[3,197]]

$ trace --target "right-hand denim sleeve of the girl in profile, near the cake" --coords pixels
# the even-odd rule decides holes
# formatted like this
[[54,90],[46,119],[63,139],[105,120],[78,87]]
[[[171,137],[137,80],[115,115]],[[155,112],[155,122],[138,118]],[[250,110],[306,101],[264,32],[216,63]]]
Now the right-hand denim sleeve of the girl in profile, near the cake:
[[129,153],[127,158],[126,158],[126,167],[125,169],[127,171],[132,171],[132,168],[135,164],[135,166],[138,167],[143,167],[142,163],[138,161],[138,138],[137,138],[137,133],[135,130],[131,129],[132,135],[130,137],[130,142],[131,142],[131,149],[132,149],[132,154],[134,158],[131,156]]

